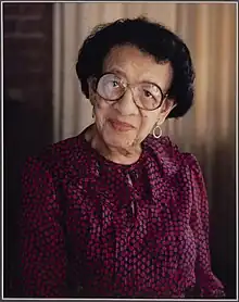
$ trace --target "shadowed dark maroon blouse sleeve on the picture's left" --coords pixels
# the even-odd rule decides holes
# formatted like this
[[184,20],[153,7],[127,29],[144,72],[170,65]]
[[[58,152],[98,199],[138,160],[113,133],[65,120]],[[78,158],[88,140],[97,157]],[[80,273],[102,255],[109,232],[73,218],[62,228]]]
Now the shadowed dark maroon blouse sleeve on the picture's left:
[[22,180],[21,264],[24,297],[67,297],[64,231],[52,176],[40,161],[30,159],[25,165]]

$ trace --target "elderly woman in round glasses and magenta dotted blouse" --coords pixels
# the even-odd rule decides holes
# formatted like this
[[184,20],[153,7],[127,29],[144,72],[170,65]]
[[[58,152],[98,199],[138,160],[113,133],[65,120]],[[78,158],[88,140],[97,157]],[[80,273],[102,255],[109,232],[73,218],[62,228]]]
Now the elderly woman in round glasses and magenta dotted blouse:
[[24,169],[25,295],[223,297],[201,169],[161,136],[192,104],[188,48],[147,18],[118,20],[85,40],[76,73],[95,123]]

